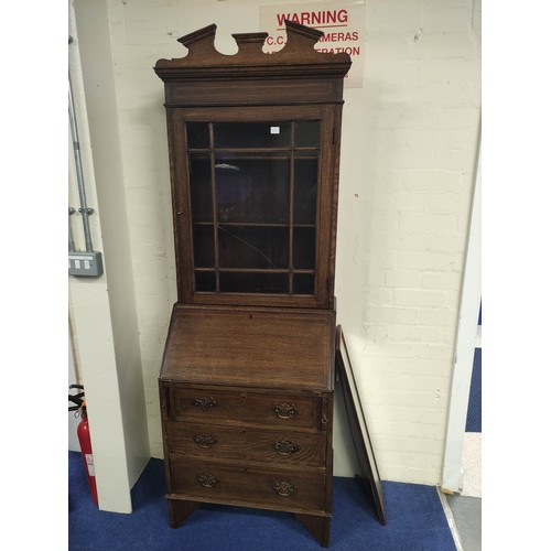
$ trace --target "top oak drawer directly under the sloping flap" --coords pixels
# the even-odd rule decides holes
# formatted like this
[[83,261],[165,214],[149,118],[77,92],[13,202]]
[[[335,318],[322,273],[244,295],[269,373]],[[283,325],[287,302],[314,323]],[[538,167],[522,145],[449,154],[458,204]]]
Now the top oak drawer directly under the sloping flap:
[[199,423],[325,429],[327,397],[170,386],[169,419]]

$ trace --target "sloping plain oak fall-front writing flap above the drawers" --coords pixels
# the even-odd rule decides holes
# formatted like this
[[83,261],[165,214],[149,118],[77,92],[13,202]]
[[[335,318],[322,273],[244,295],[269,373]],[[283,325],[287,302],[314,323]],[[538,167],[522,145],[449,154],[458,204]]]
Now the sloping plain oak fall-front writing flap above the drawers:
[[162,379],[332,390],[335,314],[174,306]]

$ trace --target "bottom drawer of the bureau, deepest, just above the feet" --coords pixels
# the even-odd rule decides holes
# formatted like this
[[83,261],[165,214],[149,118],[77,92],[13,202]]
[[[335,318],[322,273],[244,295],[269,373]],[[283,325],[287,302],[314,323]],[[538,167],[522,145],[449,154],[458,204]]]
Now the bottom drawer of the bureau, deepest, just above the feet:
[[326,473],[255,469],[170,455],[172,493],[186,499],[289,511],[325,511]]

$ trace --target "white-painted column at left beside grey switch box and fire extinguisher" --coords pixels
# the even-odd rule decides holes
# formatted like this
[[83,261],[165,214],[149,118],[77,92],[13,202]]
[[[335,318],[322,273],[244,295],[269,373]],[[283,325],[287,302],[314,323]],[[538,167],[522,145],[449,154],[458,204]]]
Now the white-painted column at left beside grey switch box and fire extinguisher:
[[[105,2],[69,6],[69,69],[87,203],[95,209],[91,238],[105,269],[99,278],[69,277],[73,345],[86,392],[99,508],[131,512],[130,490],[150,450],[110,33]],[[75,234],[82,248],[79,237]]]

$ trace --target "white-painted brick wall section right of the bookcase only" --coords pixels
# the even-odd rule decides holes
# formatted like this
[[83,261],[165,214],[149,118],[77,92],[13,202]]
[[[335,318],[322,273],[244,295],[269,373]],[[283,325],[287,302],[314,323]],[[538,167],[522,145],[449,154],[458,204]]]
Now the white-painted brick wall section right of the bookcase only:
[[345,95],[337,316],[383,478],[436,484],[478,140],[479,25],[469,0],[366,6],[365,87]]

